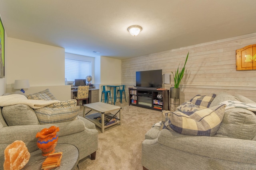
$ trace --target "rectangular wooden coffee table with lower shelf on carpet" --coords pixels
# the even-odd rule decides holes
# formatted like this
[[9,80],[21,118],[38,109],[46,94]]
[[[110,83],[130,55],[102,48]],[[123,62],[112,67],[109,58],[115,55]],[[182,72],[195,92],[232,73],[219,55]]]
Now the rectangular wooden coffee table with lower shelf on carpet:
[[[121,125],[121,109],[122,107],[119,106],[114,106],[111,104],[103,103],[103,102],[96,102],[96,103],[90,103],[90,104],[84,104],[84,110],[83,110],[83,116],[90,120],[92,123],[94,123],[96,126],[101,128],[102,133],[104,133],[104,129],[116,124]],[[98,113],[92,113],[89,114],[90,111],[85,113],[85,109],[90,109],[90,111],[96,111]],[[119,117],[117,117],[117,121],[110,124],[110,125],[105,125],[104,119],[105,119],[105,114],[108,114],[112,117],[116,116],[119,113]],[[100,123],[97,119],[94,119],[95,117],[101,117],[102,123]]]

